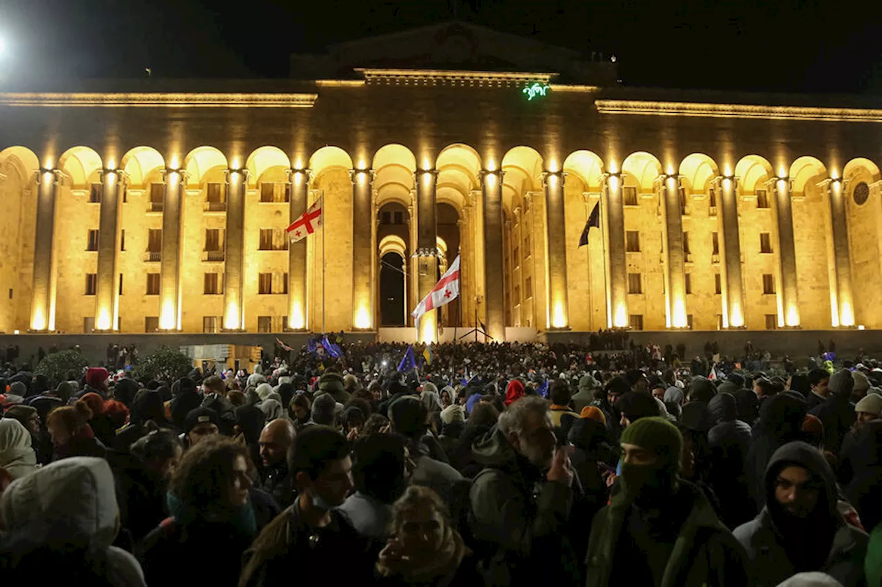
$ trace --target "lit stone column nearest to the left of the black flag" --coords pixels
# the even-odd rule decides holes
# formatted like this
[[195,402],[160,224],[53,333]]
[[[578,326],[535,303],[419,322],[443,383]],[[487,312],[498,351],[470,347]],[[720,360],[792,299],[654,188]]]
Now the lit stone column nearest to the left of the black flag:
[[549,330],[570,328],[566,291],[566,216],[564,213],[564,173],[542,174],[545,186],[546,238],[549,245],[549,306],[546,327]]

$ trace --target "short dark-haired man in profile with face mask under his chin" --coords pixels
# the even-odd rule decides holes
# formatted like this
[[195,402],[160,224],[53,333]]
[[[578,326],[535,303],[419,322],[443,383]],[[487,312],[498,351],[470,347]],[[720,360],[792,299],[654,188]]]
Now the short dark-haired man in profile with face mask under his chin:
[[377,551],[337,509],[353,488],[346,438],[331,427],[303,429],[288,451],[288,472],[297,499],[245,553],[239,587],[327,581],[332,570],[334,584],[363,583],[372,574]]

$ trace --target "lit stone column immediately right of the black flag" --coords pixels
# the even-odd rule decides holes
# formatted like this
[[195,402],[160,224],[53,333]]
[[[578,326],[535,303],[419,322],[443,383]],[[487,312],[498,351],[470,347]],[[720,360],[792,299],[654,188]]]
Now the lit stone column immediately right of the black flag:
[[624,200],[622,198],[622,176],[607,174],[606,189],[601,204],[606,212],[607,257],[609,259],[609,283],[607,294],[608,315],[613,328],[627,328],[628,315],[628,263],[624,247]]

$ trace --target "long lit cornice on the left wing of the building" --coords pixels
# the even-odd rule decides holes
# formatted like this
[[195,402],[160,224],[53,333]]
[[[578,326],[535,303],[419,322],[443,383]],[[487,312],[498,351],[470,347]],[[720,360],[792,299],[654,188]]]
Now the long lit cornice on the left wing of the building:
[[0,93],[0,106],[312,108],[317,99],[317,93]]

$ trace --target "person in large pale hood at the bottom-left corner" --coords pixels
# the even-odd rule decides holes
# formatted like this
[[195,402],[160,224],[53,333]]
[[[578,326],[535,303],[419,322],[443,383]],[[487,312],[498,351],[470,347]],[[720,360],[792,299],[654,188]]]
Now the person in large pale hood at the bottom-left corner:
[[111,546],[118,530],[113,473],[103,458],[71,457],[12,482],[0,498],[4,584],[143,587],[138,561]]

